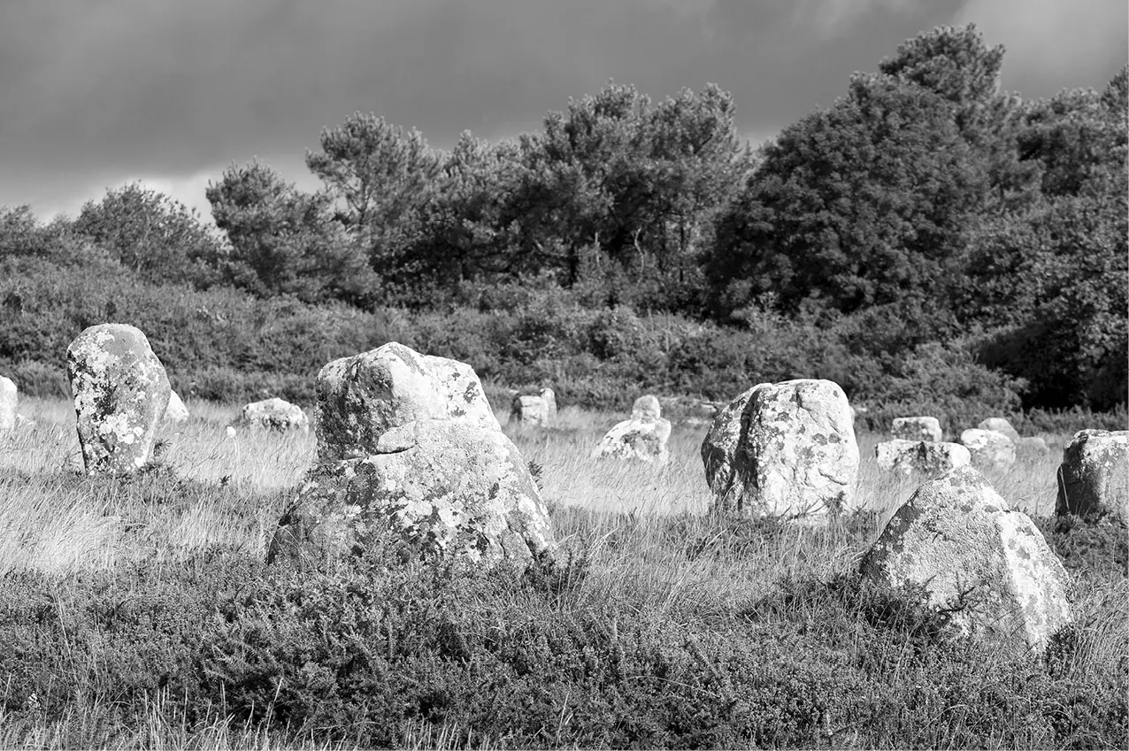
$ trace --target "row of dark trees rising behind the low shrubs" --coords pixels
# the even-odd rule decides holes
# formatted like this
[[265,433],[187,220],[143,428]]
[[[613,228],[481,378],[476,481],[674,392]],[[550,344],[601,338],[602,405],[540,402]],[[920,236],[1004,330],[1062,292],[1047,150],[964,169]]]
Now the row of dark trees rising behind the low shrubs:
[[1029,101],[1000,89],[1003,60],[974,26],[922,33],[756,149],[712,84],[653,102],[610,82],[536,132],[450,150],[356,113],[306,156],[321,190],[257,160],[209,184],[218,234],[135,184],[58,229],[154,283],[366,311],[551,288],[738,329],[776,316],[879,365],[959,347],[1029,407],[1110,409],[1129,360],[1126,68]]

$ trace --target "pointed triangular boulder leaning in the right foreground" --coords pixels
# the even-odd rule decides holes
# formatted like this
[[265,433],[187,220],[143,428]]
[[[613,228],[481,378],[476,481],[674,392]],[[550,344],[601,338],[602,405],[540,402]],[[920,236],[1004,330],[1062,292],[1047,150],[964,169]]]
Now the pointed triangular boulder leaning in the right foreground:
[[918,488],[861,561],[865,578],[919,586],[954,634],[1041,650],[1073,621],[1068,579],[1034,523],[971,466]]

